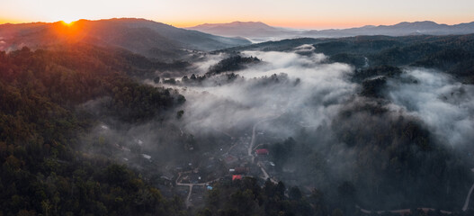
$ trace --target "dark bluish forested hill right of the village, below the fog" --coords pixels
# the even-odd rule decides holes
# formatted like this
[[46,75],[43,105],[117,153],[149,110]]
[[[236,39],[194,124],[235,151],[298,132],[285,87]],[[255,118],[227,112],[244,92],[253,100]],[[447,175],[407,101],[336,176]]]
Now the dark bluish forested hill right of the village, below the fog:
[[[358,123],[362,120],[364,124]],[[336,137],[327,138],[333,132]],[[330,140],[328,147],[321,148],[327,142],[322,138]],[[313,185],[326,194],[327,203],[345,206],[346,213],[355,212],[356,204],[376,209],[423,205],[451,210],[464,201],[459,194],[471,184],[466,160],[440,145],[422,122],[392,116],[373,103],[354,102],[339,113],[331,128],[301,130],[294,139],[264,148],[270,149],[283,182]],[[343,149],[350,153],[335,157]],[[335,166],[351,170],[342,168],[341,174]],[[351,187],[346,194],[351,202],[345,204],[336,190],[344,184]]]

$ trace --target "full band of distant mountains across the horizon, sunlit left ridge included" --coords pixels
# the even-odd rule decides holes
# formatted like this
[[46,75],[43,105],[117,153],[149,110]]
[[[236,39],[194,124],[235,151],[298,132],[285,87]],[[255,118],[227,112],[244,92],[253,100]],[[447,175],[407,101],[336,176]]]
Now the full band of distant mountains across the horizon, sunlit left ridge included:
[[[456,25],[434,22],[363,26],[341,30],[300,31],[260,22],[201,24],[188,29],[144,19],[79,20],[66,23],[0,25],[0,50],[58,46],[85,42],[101,47],[128,49],[149,58],[183,58],[192,50],[209,51],[249,45],[252,42],[293,38],[338,38],[358,35],[449,35],[474,33],[473,23]],[[219,36],[216,36],[219,35]],[[252,41],[252,42],[251,42]]]

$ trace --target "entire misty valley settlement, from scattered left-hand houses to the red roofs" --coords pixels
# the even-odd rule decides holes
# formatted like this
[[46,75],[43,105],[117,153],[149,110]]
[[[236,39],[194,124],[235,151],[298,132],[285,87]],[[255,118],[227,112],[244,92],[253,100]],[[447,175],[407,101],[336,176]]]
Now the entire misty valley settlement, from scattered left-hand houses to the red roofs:
[[[218,182],[231,184],[245,177],[254,177],[264,185],[266,180],[274,184],[278,184],[280,180],[289,180],[277,177],[279,174],[268,149],[270,144],[282,139],[258,130],[258,126],[264,121],[273,119],[275,118],[257,121],[251,133],[245,130],[238,137],[222,132],[227,137],[223,140],[227,141],[220,141],[217,149],[204,152],[199,159],[189,158],[188,161],[164,167],[157,162],[153,152],[142,149],[145,143],[141,139],[132,139],[129,145],[113,143],[112,146],[115,148],[115,157],[124,164],[141,170],[142,176],[150,180],[162,194],[167,197],[176,194],[181,196],[186,207],[201,206],[206,192],[212,190],[213,184]],[[101,130],[104,135],[109,128],[103,124]],[[192,146],[186,148],[193,150]]]

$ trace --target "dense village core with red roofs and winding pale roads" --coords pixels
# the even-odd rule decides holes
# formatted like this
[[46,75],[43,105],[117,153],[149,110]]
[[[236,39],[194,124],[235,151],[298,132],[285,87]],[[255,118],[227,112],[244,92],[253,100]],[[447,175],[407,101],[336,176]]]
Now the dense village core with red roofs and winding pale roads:
[[[255,145],[256,137],[263,135],[264,132],[253,130],[252,136],[244,134],[232,138],[232,145],[227,149],[219,148],[216,155],[209,157],[201,166],[189,166],[187,170],[178,172],[174,192],[182,195],[186,207],[191,207],[201,205],[205,192],[212,190],[212,184],[216,182],[231,183],[251,176],[259,179],[261,184],[266,179],[277,183],[271,175],[275,165],[270,161],[270,151]],[[215,169],[217,165],[220,165],[219,169]]]

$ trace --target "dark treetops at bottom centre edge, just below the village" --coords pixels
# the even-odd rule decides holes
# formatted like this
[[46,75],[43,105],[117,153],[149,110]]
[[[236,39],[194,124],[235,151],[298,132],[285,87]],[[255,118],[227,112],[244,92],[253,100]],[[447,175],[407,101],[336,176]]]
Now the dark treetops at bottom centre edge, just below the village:
[[324,215],[316,209],[326,208],[322,200],[303,197],[298,187],[291,187],[290,197],[285,196],[285,190],[282,182],[266,181],[261,186],[251,177],[217,184],[208,192],[206,206],[198,215]]

